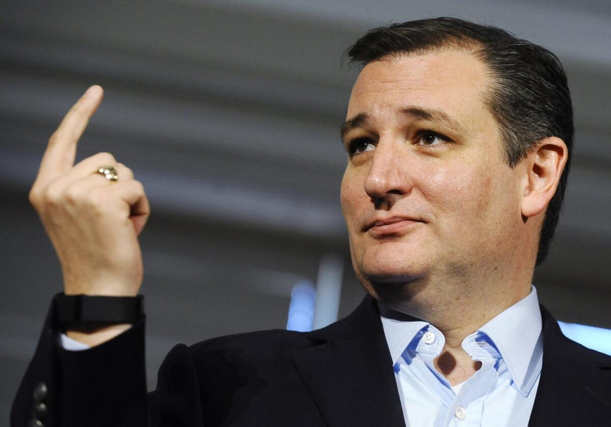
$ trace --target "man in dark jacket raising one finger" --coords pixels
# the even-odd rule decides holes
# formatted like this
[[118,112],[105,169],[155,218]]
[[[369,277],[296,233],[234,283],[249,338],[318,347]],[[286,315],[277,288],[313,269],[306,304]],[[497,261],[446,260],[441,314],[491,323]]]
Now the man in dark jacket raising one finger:
[[[72,165],[101,100],[93,86],[51,137],[31,191],[65,295],[13,425],[609,425],[611,358],[567,340],[530,284],[573,143],[558,60],[450,18],[373,29],[348,56],[364,67],[342,126],[341,199],[370,296],[312,333],[179,345],[145,396],[133,295],[148,204],[111,155]],[[90,348],[65,348],[74,341]]]

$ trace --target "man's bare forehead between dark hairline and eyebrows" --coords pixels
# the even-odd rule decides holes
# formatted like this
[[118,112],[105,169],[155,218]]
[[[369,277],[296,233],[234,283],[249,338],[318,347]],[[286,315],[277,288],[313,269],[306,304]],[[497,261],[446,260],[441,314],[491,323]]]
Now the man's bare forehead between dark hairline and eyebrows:
[[[403,114],[411,108],[416,118],[445,122],[471,121],[474,114],[488,113],[484,91],[489,76],[485,65],[464,51],[401,55],[372,61],[360,72],[348,103],[346,120],[367,114]],[[422,111],[420,113],[418,110]]]

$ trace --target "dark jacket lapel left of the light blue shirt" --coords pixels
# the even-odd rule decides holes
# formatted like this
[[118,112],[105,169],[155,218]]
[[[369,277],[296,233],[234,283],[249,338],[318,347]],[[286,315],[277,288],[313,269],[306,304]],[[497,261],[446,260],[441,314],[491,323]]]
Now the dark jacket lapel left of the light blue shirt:
[[295,363],[329,426],[404,426],[375,300],[309,336]]

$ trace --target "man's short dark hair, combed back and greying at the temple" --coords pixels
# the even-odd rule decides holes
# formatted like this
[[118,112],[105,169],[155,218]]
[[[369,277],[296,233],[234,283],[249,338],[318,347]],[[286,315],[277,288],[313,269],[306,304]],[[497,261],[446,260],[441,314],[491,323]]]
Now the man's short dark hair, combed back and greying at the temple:
[[[456,18],[435,18],[371,29],[346,50],[349,62],[362,67],[397,54],[436,50],[474,54],[491,72],[486,106],[499,124],[508,165],[514,168],[547,136],[573,147],[573,105],[566,74],[549,50],[493,26]],[[536,265],[544,261],[566,188],[569,162],[547,206]]]

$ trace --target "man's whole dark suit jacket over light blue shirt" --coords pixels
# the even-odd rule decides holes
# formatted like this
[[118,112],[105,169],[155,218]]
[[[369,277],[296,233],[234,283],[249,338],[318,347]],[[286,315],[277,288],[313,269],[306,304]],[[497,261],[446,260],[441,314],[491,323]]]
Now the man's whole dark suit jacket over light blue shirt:
[[[529,426],[611,426],[611,357],[568,340],[545,308],[541,313],[543,369]],[[14,427],[27,425],[40,382],[48,388],[46,427],[404,425],[371,297],[311,333],[271,330],[179,344],[148,396],[144,319],[84,352],[58,347],[56,330],[52,309],[13,403]]]

